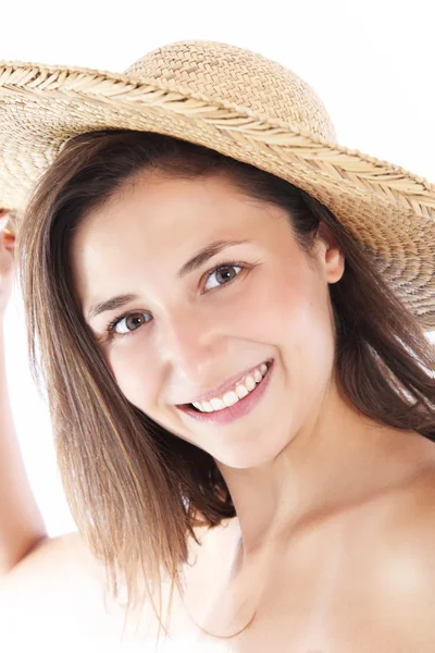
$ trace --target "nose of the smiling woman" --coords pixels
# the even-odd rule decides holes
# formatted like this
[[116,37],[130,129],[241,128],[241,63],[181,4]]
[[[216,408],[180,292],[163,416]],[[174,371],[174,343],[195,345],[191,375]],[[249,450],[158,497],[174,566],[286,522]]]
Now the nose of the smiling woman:
[[194,311],[183,311],[160,321],[157,336],[159,358],[171,374],[192,385],[210,377],[210,368],[222,356],[222,338],[210,319]]

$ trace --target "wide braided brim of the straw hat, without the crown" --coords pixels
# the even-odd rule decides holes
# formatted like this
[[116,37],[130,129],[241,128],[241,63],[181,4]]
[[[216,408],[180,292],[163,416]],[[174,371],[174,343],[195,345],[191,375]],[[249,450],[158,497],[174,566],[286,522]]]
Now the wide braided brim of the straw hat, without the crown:
[[435,328],[435,186],[279,120],[83,67],[0,62],[0,206],[22,211],[71,137],[158,132],[217,150],[302,188],[370,252],[403,304]]

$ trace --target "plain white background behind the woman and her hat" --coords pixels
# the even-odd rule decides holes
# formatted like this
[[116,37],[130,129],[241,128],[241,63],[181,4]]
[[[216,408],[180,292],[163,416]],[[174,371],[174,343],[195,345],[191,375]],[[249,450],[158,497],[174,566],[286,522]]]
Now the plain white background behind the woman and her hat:
[[[320,95],[340,144],[435,182],[433,0],[48,0],[1,8],[0,59],[123,71],[185,39],[228,42],[287,65]],[[12,409],[50,535],[75,530],[47,408],[26,360],[16,292],[5,316]]]

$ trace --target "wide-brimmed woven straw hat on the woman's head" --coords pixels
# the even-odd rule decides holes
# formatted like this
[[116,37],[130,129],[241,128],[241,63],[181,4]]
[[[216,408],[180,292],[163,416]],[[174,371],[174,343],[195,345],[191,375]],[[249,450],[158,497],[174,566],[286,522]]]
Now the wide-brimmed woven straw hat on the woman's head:
[[0,62],[0,207],[20,218],[62,145],[102,128],[183,138],[303,188],[435,326],[435,186],[338,145],[322,101],[290,70],[211,41],[159,48],[124,74]]

